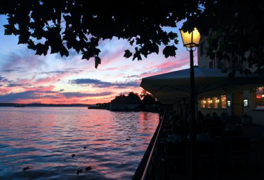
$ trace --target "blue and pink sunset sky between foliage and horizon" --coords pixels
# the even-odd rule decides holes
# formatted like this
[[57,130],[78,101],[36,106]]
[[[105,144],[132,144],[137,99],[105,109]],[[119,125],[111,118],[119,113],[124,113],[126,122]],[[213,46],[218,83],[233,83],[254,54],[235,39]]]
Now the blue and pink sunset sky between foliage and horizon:
[[[81,60],[70,51],[69,57],[59,54],[36,56],[25,44],[17,44],[14,35],[3,35],[6,17],[0,16],[0,103],[96,104],[108,102],[120,94],[140,92],[142,78],[189,67],[189,53],[178,44],[176,58],[160,53],[143,60],[124,58],[131,49],[126,40],[101,41],[101,65],[94,60]],[[178,28],[165,28],[176,31]],[[181,40],[181,39],[179,39]],[[195,51],[197,65],[197,51]]]

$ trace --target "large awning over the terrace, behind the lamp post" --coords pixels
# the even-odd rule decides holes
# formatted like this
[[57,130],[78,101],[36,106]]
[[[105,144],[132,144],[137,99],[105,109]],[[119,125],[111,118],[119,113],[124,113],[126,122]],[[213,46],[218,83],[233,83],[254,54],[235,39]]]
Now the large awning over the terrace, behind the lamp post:
[[[264,85],[264,76],[236,74],[229,77],[221,69],[195,67],[195,91],[199,98],[226,95]],[[190,69],[149,76],[140,86],[163,104],[190,97]]]

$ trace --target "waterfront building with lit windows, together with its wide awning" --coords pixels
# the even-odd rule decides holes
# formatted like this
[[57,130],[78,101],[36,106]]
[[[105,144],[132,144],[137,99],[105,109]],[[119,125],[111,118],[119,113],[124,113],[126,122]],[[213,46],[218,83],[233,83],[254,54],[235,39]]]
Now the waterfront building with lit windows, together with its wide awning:
[[[206,40],[201,36],[198,67],[195,67],[197,115],[199,111],[204,115],[217,113],[242,124],[264,125],[263,74],[240,74],[240,70],[248,65],[239,56],[233,59],[230,56],[229,60],[207,57]],[[236,74],[229,78],[230,72]],[[183,120],[188,120],[190,69],[149,76],[142,79],[141,86],[163,104],[174,104],[176,113]]]

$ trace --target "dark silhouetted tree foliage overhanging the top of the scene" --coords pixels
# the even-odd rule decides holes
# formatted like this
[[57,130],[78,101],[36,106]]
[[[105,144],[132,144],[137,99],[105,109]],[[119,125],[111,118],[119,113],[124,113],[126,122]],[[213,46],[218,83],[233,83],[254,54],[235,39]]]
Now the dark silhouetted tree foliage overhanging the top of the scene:
[[175,56],[179,37],[163,27],[185,20],[184,31],[197,27],[204,35],[217,32],[208,56],[247,53],[249,65],[264,71],[263,0],[0,0],[0,13],[8,16],[5,34],[19,35],[18,44],[27,44],[39,55],[68,56],[73,49],[83,59],[94,58],[95,67],[101,63],[99,41],[113,37],[133,47],[124,51],[126,58],[142,60],[158,54],[161,46],[166,58]]

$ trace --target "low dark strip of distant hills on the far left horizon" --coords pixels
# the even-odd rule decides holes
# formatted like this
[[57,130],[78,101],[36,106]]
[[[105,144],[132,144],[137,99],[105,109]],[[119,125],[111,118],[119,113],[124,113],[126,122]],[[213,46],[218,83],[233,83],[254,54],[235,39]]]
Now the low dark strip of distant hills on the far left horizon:
[[[0,106],[15,106],[16,103],[0,103]],[[88,107],[91,104],[22,104],[24,106],[36,106],[36,107]]]

